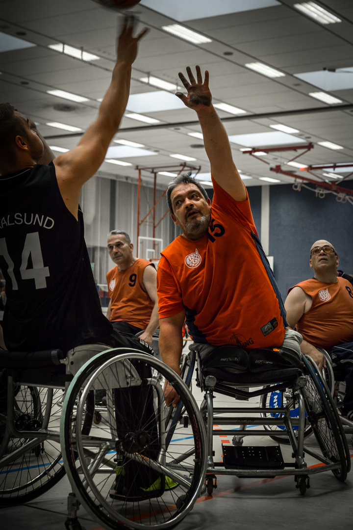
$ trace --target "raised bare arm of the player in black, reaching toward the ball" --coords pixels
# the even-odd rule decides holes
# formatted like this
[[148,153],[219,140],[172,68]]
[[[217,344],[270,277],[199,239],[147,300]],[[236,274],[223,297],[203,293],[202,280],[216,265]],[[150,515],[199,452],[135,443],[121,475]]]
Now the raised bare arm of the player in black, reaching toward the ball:
[[131,65],[137,55],[138,42],[148,31],[146,28],[133,37],[134,25],[133,17],[125,19],[118,39],[112,81],[99,108],[97,120],[87,129],[75,149],[59,155],[53,161],[61,196],[76,218],[82,185],[102,164],[128,103]]

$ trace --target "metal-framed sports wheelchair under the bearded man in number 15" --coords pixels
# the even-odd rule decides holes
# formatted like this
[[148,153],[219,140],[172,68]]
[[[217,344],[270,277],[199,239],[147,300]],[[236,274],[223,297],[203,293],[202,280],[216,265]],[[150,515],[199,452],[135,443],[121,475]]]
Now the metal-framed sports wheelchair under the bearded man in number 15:
[[[224,362],[229,360],[227,356],[232,357],[231,349],[212,352],[206,357],[209,360],[212,357],[211,362],[202,360],[198,351],[192,351],[184,359],[187,373],[196,364],[196,384],[204,392],[201,413],[207,434],[207,493],[212,494],[217,487],[216,475],[243,478],[294,475],[302,495],[315,473],[330,470],[338,480],[345,481],[350,471],[350,454],[330,391],[333,389],[330,367],[322,375],[310,357],[302,356],[302,368],[234,373]],[[234,348],[234,356],[237,350]],[[188,374],[184,378],[191,379]],[[214,407],[213,401],[219,395],[237,400],[259,398],[260,402],[256,406],[247,403],[248,406]],[[311,434],[319,449],[307,440]],[[221,461],[216,461],[219,458],[215,458],[214,437],[220,436],[223,440],[232,436],[232,445],[224,440],[219,451]],[[246,436],[258,439],[269,436],[270,443],[245,445]],[[291,462],[284,461],[279,444],[291,446]],[[316,465],[308,466],[305,454],[313,457]]]

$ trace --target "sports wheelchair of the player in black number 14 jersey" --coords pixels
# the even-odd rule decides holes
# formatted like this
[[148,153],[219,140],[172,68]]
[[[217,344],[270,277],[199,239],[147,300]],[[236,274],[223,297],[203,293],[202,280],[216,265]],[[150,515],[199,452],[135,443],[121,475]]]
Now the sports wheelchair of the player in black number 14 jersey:
[[[106,529],[174,526],[193,507],[206,469],[205,428],[188,387],[138,350],[89,345],[72,351],[0,351],[7,378],[6,408],[0,400],[0,506],[33,500],[66,472],[73,489],[68,530],[82,528],[80,504]],[[87,362],[73,376],[68,368],[75,355]],[[187,418],[173,432],[166,379]],[[95,391],[102,389],[106,405],[97,424]]]

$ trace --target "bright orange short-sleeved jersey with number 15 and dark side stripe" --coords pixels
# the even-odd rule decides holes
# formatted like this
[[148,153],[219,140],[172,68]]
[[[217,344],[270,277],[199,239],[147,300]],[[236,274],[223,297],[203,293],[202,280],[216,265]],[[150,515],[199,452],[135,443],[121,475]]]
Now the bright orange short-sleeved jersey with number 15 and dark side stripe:
[[246,349],[279,346],[287,325],[285,312],[249,199],[238,202],[215,181],[213,187],[208,235],[197,241],[180,235],[161,252],[159,317],[185,308],[195,342]]

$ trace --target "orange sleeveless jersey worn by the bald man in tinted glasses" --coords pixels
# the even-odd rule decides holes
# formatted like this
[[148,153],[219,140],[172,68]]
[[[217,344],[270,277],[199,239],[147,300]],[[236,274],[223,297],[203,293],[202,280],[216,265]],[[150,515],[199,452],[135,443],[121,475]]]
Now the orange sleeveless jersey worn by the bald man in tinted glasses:
[[294,287],[301,287],[313,301],[296,325],[307,342],[315,348],[331,348],[353,341],[353,287],[348,280],[337,278],[327,284],[312,278]]

